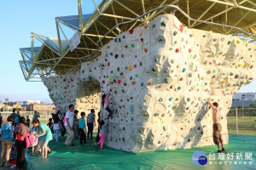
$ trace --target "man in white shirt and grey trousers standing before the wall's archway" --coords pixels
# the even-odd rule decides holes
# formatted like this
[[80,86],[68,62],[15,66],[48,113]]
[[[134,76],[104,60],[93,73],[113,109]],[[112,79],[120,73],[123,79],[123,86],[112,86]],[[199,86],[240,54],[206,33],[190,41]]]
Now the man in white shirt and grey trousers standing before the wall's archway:
[[74,105],[69,105],[69,110],[67,111],[63,121],[64,121],[64,126],[66,127],[67,130],[67,139],[65,141],[66,145],[72,145],[74,146],[74,144],[72,144],[72,140],[73,140],[73,111],[74,111]]

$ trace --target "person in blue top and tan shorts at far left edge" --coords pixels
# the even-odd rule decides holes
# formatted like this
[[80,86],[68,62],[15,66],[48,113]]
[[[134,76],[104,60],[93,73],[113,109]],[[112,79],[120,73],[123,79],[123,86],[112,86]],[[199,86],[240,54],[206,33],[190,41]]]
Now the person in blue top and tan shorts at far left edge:
[[1,153],[1,166],[3,166],[3,157],[5,156],[5,167],[10,167],[11,164],[9,163],[9,154],[13,146],[13,133],[14,127],[12,123],[14,122],[14,117],[9,116],[7,118],[7,123],[3,124],[1,130],[1,141],[2,141],[2,153]]

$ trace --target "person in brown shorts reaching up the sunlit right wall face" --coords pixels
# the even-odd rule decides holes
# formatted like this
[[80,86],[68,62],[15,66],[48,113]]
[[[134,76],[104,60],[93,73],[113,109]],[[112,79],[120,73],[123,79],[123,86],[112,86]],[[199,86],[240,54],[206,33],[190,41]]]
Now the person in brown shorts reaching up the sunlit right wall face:
[[[218,103],[214,102],[212,104],[211,99],[208,99],[208,103],[212,108],[212,122],[213,122],[213,142],[214,144],[217,144],[218,146],[218,153],[221,153],[222,151],[225,151],[223,139],[221,137],[221,125],[220,125],[220,111],[218,109]],[[222,150],[220,150],[220,144],[222,146]]]

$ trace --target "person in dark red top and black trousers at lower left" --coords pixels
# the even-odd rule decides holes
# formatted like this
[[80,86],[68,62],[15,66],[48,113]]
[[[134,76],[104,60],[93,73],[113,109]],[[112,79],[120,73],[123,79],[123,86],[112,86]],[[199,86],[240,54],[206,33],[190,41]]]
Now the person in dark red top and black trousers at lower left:
[[26,120],[24,116],[21,116],[19,123],[15,127],[16,133],[16,149],[17,149],[17,169],[23,169],[25,165],[25,154],[26,154],[26,142],[25,138],[27,133],[30,132],[29,127],[26,127]]

